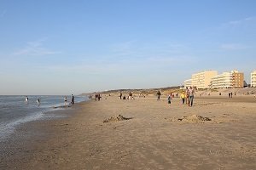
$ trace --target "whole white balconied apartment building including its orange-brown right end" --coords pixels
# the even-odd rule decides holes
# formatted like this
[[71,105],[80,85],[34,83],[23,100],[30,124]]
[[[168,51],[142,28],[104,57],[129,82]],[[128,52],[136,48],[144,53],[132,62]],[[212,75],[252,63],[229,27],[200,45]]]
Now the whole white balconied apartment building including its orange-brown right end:
[[243,88],[244,75],[239,71],[224,72],[212,77],[211,88]]

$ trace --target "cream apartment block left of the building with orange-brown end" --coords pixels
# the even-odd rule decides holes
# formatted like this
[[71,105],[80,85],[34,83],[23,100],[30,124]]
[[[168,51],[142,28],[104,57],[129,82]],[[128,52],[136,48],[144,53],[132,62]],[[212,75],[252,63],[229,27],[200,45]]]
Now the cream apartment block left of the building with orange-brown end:
[[192,75],[192,86],[198,89],[210,88],[212,77],[217,76],[217,71],[201,71]]

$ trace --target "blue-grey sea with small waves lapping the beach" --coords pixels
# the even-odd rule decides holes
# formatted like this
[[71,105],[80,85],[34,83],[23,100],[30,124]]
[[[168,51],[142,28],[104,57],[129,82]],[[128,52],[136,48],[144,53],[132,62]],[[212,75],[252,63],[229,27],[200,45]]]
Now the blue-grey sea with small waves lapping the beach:
[[[67,103],[61,95],[0,95],[0,141],[8,139],[19,125],[36,120],[57,118],[54,111],[67,109],[71,96],[67,96]],[[37,105],[40,99],[40,105]],[[74,96],[74,102],[86,101],[86,96]],[[52,112],[53,114],[48,114]]]

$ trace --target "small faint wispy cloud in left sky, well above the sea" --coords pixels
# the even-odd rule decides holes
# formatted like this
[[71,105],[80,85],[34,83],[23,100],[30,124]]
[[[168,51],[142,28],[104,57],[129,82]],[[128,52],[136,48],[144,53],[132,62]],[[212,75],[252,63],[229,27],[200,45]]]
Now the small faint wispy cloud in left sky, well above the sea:
[[52,51],[48,48],[44,48],[43,42],[47,38],[42,38],[34,42],[26,42],[26,46],[13,53],[13,55],[26,55],[26,56],[43,56],[51,54],[61,54],[59,51]]

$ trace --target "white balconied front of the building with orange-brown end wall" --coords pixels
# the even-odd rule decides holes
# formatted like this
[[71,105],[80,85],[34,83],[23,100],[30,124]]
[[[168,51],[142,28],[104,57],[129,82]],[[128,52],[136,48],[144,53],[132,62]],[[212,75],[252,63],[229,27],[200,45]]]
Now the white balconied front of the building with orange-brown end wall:
[[211,88],[232,88],[233,75],[231,72],[224,72],[220,75],[212,77]]

